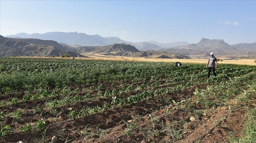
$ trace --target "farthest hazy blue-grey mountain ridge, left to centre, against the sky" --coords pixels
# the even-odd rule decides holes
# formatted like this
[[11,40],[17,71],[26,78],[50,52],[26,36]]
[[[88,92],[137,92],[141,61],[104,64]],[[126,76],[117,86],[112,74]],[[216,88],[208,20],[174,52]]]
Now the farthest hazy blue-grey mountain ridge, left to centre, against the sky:
[[158,43],[156,41],[148,42],[128,42],[121,40],[118,37],[105,37],[95,34],[87,35],[85,33],[77,32],[47,32],[44,34],[34,33],[18,33],[15,35],[7,35],[8,38],[32,38],[41,40],[54,40],[58,43],[65,43],[68,45],[80,46],[107,46],[115,43],[126,43],[136,47],[138,50],[150,50],[159,48],[172,48],[176,46],[188,45],[188,42],[171,42],[171,43]]

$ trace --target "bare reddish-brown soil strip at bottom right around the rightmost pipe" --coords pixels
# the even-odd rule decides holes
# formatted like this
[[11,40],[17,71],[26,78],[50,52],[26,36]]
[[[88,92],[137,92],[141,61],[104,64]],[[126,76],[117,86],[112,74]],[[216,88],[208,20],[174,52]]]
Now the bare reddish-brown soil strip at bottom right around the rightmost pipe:
[[[229,113],[230,111],[226,107],[219,107],[214,114],[204,117],[204,123],[195,128],[190,134],[184,136],[179,143],[191,143],[205,134],[207,135],[200,139],[201,142],[228,142],[230,134],[234,133],[233,135],[239,136],[240,130],[244,128],[245,108],[241,107],[227,116]],[[224,120],[224,117],[226,116],[227,119]],[[223,122],[217,124],[222,120]],[[211,130],[212,128],[214,129]]]

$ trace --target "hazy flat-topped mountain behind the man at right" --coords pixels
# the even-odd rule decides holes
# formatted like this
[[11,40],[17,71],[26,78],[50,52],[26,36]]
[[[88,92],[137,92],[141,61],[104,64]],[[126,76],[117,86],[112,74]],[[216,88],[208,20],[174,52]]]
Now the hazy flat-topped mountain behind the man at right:
[[[247,45],[247,44],[246,44]],[[249,46],[250,45],[250,46]],[[241,45],[239,45],[241,46]],[[202,38],[196,44],[189,44],[186,46],[178,46],[174,48],[165,49],[170,52],[187,55],[192,58],[207,58],[209,53],[214,52],[215,56],[223,59],[236,59],[239,57],[254,58],[256,47],[254,43],[248,44],[249,49],[243,47],[228,45],[224,40],[213,39],[209,40]],[[243,50],[243,52],[241,52]]]

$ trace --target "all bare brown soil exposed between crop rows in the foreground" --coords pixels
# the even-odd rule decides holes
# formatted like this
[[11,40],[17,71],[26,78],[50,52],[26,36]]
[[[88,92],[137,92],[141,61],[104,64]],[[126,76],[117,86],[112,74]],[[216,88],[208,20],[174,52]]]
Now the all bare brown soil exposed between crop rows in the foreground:
[[[151,82],[146,83],[151,84]],[[118,84],[116,88],[120,89],[122,87],[121,84],[123,83]],[[139,83],[136,84],[140,85]],[[95,86],[98,86],[98,84]],[[114,89],[111,87],[111,83],[106,84],[105,87],[109,87],[108,90],[110,91]],[[170,86],[161,82],[158,88],[161,87]],[[228,142],[231,137],[240,137],[242,135],[241,130],[244,129],[245,107],[248,105],[245,104],[232,113],[230,113],[228,107],[205,109],[202,104],[194,103],[196,97],[193,92],[196,88],[205,89],[206,85],[191,86],[184,91],[171,92],[133,105],[115,107],[114,109],[100,111],[75,120],[69,120],[67,117],[71,110],[79,111],[81,108],[96,107],[97,105],[102,107],[104,102],[111,102],[112,96],[57,107],[55,108],[55,113],[48,110],[44,110],[42,114],[33,113],[32,109],[36,107],[45,108],[45,99],[0,107],[1,111],[7,113],[17,110],[27,113],[20,116],[24,120],[15,121],[12,115],[1,118],[1,122],[5,125],[16,127],[12,131],[16,133],[1,137],[0,143],[18,141],[23,141],[24,143],[51,142],[53,136],[58,137],[58,143],[68,140],[73,143],[190,143],[199,138],[203,143],[223,143]],[[102,91],[105,90],[105,88],[102,89]],[[97,96],[97,93],[98,91],[92,92],[94,97]],[[76,95],[84,96],[85,94],[85,92],[81,91]],[[121,94],[120,97],[124,98],[136,94],[138,93],[132,91]],[[6,101],[11,96],[8,95],[6,98],[2,97],[1,99]],[[47,101],[60,98],[61,96],[53,97],[47,99]],[[234,105],[234,100],[230,100],[227,103]],[[199,112],[197,116],[193,114],[196,111]],[[224,117],[227,118],[224,119]],[[22,124],[33,126],[41,118],[46,119],[45,122],[48,125],[44,129],[19,132]],[[217,124],[221,120],[223,122]],[[133,123],[134,127],[129,132],[127,125]]]

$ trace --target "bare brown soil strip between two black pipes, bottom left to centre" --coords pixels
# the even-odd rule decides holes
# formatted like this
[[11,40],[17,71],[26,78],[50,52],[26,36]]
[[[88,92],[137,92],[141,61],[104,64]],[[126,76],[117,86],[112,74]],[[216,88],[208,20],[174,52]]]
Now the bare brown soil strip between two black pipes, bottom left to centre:
[[[79,132],[82,131],[86,125],[92,125],[93,129],[100,128],[101,130],[106,130],[113,128],[115,125],[120,124],[123,120],[130,120],[132,115],[136,114],[147,114],[151,109],[156,110],[158,109],[162,104],[160,102],[153,102],[153,103],[147,103],[146,101],[142,103],[138,103],[136,105],[129,105],[125,107],[121,107],[115,110],[108,110],[103,113],[94,114],[92,116],[86,116],[83,118],[79,118],[77,120],[71,121],[71,122],[65,122],[63,124],[58,124],[55,126],[51,126],[46,128],[46,135],[45,136],[52,136],[52,135],[70,135],[72,137],[79,136]],[[109,120],[106,121],[106,118]],[[63,131],[64,128],[67,128],[67,130]],[[70,130],[68,130],[70,129]],[[42,129],[45,130],[45,129]],[[74,132],[78,134],[74,134]],[[31,136],[31,134],[34,136]],[[14,138],[20,138],[23,141],[32,141],[32,139],[35,139],[35,137],[39,137],[42,132],[36,132],[32,131],[29,133],[19,133],[10,135]],[[39,134],[40,133],[40,134]],[[4,137],[3,142],[17,142],[13,141],[10,136]],[[33,138],[31,138],[33,137]],[[1,140],[0,140],[1,141]],[[2,141],[1,141],[2,142]]]

